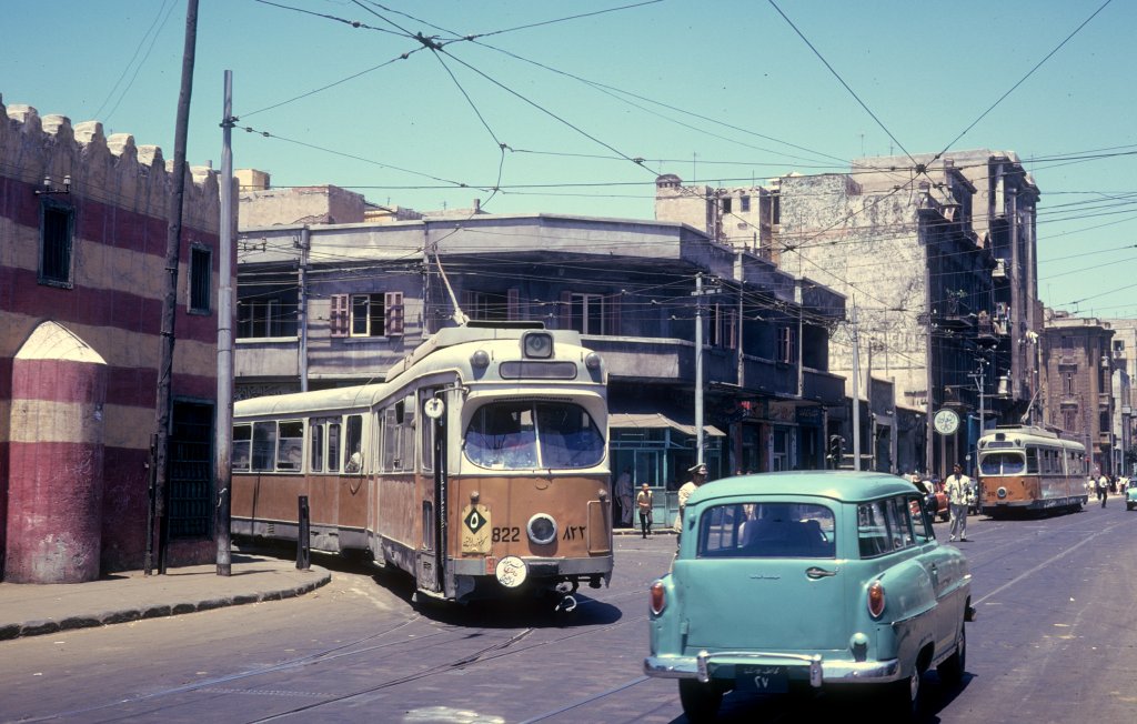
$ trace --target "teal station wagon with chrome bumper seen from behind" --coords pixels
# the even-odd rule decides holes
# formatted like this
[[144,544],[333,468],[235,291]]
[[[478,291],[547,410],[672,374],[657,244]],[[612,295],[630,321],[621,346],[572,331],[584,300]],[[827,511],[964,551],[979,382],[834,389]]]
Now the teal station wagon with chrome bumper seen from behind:
[[[963,679],[971,574],[912,484],[881,473],[774,473],[699,488],[672,571],[652,584],[644,671],[713,718],[730,690],[874,686],[918,709],[922,674]],[[899,715],[899,716],[896,716]]]

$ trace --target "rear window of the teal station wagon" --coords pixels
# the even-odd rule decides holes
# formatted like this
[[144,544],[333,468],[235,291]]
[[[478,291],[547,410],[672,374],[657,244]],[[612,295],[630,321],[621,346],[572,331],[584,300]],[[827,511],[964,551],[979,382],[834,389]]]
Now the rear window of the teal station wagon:
[[699,518],[699,558],[833,558],[833,511],[797,502],[714,506]]

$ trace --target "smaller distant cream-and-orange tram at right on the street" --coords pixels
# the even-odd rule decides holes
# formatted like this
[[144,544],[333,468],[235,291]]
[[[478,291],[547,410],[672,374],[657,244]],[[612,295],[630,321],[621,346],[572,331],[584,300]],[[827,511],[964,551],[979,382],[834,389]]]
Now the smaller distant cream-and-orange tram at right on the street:
[[1079,510],[1089,499],[1086,447],[1041,427],[999,426],[978,443],[982,513]]

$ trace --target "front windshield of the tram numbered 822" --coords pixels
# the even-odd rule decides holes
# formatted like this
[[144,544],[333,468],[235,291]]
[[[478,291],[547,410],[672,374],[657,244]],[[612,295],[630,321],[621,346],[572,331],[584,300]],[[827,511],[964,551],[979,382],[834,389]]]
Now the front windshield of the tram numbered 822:
[[591,467],[604,458],[604,435],[579,405],[491,402],[470,421],[465,450],[493,469]]

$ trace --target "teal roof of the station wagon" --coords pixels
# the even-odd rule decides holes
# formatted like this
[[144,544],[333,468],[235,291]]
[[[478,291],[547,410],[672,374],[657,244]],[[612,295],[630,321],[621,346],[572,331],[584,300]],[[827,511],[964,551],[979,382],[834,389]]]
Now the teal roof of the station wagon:
[[735,496],[816,496],[833,500],[877,500],[919,492],[912,481],[888,473],[800,471],[738,475],[704,483],[687,505]]

